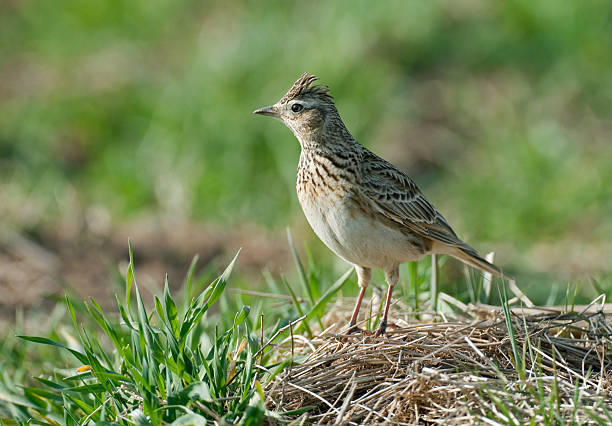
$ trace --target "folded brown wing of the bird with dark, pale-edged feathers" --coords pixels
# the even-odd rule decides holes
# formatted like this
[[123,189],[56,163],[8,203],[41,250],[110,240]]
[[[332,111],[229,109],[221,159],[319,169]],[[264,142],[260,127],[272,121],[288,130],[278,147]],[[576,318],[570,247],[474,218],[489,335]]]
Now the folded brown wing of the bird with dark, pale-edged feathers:
[[425,238],[465,246],[406,174],[365,148],[360,171],[362,195],[380,214]]

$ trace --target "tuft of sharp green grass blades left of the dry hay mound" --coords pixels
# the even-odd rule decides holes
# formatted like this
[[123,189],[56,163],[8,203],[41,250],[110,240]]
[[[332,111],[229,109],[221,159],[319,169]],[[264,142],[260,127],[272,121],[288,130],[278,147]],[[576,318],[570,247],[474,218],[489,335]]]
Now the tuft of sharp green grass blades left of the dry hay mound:
[[[68,425],[89,421],[205,424],[205,418],[258,424],[265,408],[253,358],[260,347],[245,322],[249,307],[236,312],[229,327],[228,321],[211,327],[202,320],[222,296],[235,261],[182,309],[166,281],[161,300],[155,298],[155,310],[147,312],[130,248],[126,295],[117,301],[119,316],[108,316],[91,299],[82,313],[99,327],[92,331],[80,325],[67,298],[75,342],[19,336],[57,347],[74,359],[71,368],[48,371],[45,377],[36,377],[33,386],[10,389],[4,383],[5,395],[10,397],[2,398],[3,402],[12,402],[2,405],[5,415],[23,422]],[[206,336],[207,345],[202,342],[203,327],[211,333]]]

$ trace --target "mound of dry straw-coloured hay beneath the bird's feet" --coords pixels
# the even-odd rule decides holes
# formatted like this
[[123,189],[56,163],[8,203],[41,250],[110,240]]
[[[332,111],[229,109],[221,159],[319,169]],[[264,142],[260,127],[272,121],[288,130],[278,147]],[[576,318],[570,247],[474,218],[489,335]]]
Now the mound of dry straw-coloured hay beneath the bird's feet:
[[280,412],[310,406],[295,424],[605,424],[612,322],[603,307],[514,308],[514,339],[500,308],[471,306],[471,321],[293,340],[287,350],[310,353],[275,378],[267,403]]

